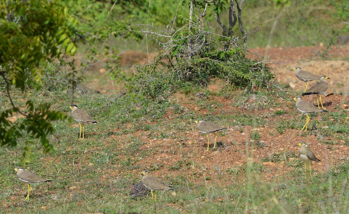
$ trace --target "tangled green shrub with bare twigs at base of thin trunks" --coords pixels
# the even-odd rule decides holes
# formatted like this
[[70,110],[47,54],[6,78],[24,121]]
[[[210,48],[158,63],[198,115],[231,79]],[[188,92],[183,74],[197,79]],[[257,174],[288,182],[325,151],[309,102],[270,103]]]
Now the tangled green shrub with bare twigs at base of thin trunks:
[[[248,59],[245,50],[236,43],[237,38],[217,36],[195,24],[181,28],[168,42],[154,38],[164,49],[159,51],[154,63],[138,67],[135,81],[142,95],[161,101],[187,87],[187,83],[207,86],[213,77],[233,88],[249,91],[274,85],[270,68]],[[232,47],[224,50],[227,44]]]

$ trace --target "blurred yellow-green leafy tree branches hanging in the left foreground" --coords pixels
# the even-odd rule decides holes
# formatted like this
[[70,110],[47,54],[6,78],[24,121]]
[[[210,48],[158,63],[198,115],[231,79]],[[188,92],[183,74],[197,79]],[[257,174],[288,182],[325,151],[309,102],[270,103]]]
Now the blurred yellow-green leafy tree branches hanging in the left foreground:
[[[28,86],[40,88],[47,61],[62,54],[74,55],[75,31],[79,22],[57,1],[8,0],[0,2],[0,76],[12,108],[1,112],[0,145],[15,147],[17,139],[31,136],[39,139],[44,151],[52,150],[47,135],[52,134],[52,121],[66,119],[66,114],[50,110],[50,104],[34,105],[27,101],[21,111],[14,105],[12,86],[24,91]],[[20,114],[20,122],[11,123],[7,117]],[[26,142],[23,162],[30,161],[31,140]]]

